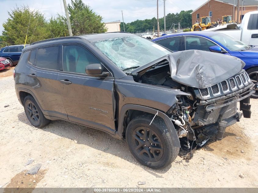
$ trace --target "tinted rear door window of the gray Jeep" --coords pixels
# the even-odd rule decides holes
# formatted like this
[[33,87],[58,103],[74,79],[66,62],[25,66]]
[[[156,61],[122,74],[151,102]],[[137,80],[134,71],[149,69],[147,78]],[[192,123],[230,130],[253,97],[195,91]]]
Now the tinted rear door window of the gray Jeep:
[[59,70],[59,46],[39,48],[36,66],[50,70]]

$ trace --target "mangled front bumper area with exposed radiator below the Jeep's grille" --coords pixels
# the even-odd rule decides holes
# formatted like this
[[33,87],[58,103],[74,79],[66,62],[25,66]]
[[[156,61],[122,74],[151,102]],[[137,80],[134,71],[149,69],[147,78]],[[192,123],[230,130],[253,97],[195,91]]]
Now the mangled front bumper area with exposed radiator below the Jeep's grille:
[[[189,145],[186,145],[186,139],[182,139],[180,141],[180,156],[190,156],[191,158],[191,152],[196,148],[203,147],[210,139],[221,140],[226,127],[238,122],[242,117],[251,117],[249,103],[255,88],[253,84],[250,84],[241,91],[223,96],[223,99],[220,97],[199,102],[193,121],[197,125],[192,127],[196,140],[191,141],[190,137],[191,147],[189,148]],[[240,102],[242,113],[237,111],[237,102]]]

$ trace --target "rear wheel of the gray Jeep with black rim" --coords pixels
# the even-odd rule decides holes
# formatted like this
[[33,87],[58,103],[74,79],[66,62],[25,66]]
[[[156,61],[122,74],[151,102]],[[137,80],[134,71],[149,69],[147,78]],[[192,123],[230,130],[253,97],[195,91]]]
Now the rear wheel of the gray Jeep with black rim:
[[25,114],[34,127],[42,128],[50,123],[50,120],[45,118],[37,102],[31,95],[24,98],[23,104]]

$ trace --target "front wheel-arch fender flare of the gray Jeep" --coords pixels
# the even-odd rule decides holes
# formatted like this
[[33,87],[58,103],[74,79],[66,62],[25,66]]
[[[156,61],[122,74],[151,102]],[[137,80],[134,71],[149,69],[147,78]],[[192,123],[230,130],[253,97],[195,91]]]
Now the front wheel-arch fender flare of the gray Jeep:
[[172,141],[173,141],[173,145],[175,147],[181,148],[179,137],[176,133],[176,129],[175,129],[172,121],[169,119],[169,117],[165,113],[162,113],[161,111],[152,109],[150,107],[141,106],[141,105],[126,104],[126,105],[122,106],[120,114],[119,114],[119,119],[118,119],[118,130],[116,131],[116,135],[119,138],[123,137],[122,133],[124,131],[124,128],[123,128],[124,117],[125,117],[126,111],[128,111],[128,110],[139,110],[139,111],[144,111],[144,112],[151,113],[154,115],[156,113],[158,113],[157,116],[161,117],[164,120],[164,122],[168,128],[168,131],[169,131]]

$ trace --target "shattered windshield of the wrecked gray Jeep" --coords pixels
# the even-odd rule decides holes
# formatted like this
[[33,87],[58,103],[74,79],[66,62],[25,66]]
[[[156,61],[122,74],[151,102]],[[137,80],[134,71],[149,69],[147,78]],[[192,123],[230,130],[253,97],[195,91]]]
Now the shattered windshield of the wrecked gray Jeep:
[[138,68],[171,53],[136,35],[95,41],[93,44],[122,70]]

